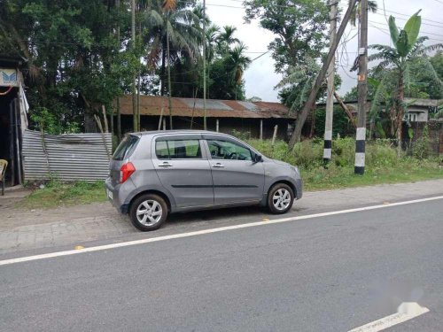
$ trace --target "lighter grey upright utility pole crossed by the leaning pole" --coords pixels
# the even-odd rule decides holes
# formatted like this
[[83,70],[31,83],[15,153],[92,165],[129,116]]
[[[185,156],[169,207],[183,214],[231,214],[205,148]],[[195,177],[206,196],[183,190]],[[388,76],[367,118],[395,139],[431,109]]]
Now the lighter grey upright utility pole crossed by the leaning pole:
[[[338,0],[330,0],[330,45],[336,39],[337,35],[337,5]],[[326,118],[324,121],[324,149],[323,161],[325,165],[330,162],[332,154],[332,120],[334,116],[334,70],[335,70],[335,55],[330,61],[328,73],[326,78],[328,81],[328,96],[326,98]]]

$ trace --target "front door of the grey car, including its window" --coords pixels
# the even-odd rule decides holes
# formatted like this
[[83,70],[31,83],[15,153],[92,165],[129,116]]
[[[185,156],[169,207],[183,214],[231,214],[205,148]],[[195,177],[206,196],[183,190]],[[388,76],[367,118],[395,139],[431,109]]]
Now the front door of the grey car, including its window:
[[214,182],[214,204],[259,202],[263,197],[264,167],[253,152],[224,136],[204,136]]

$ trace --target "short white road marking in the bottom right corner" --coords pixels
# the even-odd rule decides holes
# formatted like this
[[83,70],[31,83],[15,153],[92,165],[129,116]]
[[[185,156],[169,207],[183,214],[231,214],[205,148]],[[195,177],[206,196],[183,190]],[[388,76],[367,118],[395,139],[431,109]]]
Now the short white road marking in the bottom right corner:
[[412,320],[413,318],[428,312],[428,308],[420,306],[416,302],[403,302],[399,306],[397,313],[386,316],[380,320],[372,321],[361,326],[360,328],[353,328],[348,332],[377,332],[384,330],[385,328],[391,328],[392,326],[405,322],[406,320]]

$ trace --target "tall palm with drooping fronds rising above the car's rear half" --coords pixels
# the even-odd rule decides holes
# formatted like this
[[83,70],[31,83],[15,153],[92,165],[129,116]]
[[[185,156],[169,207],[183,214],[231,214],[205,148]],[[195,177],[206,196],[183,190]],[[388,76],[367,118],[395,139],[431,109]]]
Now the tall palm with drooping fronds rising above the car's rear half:
[[153,3],[146,17],[148,41],[151,41],[148,66],[155,68],[160,62],[160,94],[164,96],[167,91],[169,126],[172,128],[171,61],[181,57],[198,57],[198,46],[204,37],[196,13],[180,6],[175,0],[155,0]]

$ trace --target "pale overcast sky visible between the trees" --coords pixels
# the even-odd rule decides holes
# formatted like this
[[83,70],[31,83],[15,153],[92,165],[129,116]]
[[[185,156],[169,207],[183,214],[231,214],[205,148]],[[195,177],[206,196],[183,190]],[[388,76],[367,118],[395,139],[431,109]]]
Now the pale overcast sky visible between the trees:
[[[340,8],[343,13],[346,11],[348,0],[340,0]],[[420,35],[430,37],[429,43],[443,43],[443,0],[385,0],[385,14],[383,1],[377,0],[378,12],[369,13],[369,44],[391,42],[386,17],[393,15],[396,17],[397,26],[403,27],[410,15],[422,9],[422,28]],[[268,30],[260,27],[258,21],[245,24],[245,10],[240,0],[206,0],[206,11],[212,21],[222,27],[225,25],[237,27],[237,38],[248,47],[247,55],[250,58],[260,56],[260,53],[268,50],[268,43],[274,39],[274,35]],[[389,12],[388,12],[389,11]],[[394,13],[395,12],[395,13]],[[342,86],[338,90],[340,95],[344,95],[349,89],[356,85],[355,73],[349,73],[349,67],[354,63],[357,51],[356,28],[348,27],[343,40],[346,44],[338,47],[337,65],[338,73],[342,78]],[[354,38],[353,38],[354,37]],[[370,66],[370,64],[369,64]],[[274,89],[281,74],[274,72],[274,61],[270,53],[253,61],[245,72],[246,97],[260,97],[264,101],[278,101],[277,90]]]

